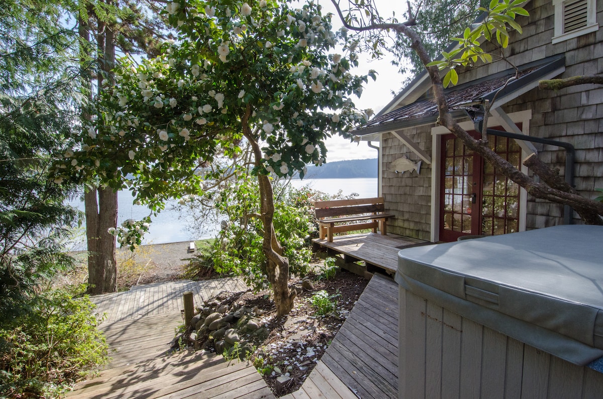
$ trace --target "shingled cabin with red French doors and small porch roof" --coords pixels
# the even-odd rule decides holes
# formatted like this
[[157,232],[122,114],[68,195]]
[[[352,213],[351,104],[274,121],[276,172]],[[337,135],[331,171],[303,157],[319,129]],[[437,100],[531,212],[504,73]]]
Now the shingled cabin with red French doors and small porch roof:
[[[532,0],[495,60],[459,72],[446,90],[450,111],[475,130],[491,104],[488,141],[522,171],[526,156],[558,168],[588,198],[603,188],[603,87],[538,89],[538,81],[603,73],[603,1]],[[519,69],[510,68],[510,63]],[[540,201],[467,151],[436,124],[431,81],[424,72],[368,124],[353,133],[379,142],[379,196],[394,218],[388,232],[431,242],[580,223],[569,207]],[[420,165],[400,173],[396,165]],[[421,164],[419,164],[421,162]],[[417,173],[418,172],[418,173]]]

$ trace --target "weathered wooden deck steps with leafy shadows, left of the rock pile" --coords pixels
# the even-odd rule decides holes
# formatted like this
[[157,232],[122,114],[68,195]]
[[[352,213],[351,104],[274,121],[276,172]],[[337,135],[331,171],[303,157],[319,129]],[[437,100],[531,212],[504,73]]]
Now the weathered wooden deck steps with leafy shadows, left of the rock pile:
[[169,353],[180,322],[177,311],[102,324],[113,359],[99,377],[78,383],[68,397],[274,398],[251,363],[228,363],[222,356],[189,350]]

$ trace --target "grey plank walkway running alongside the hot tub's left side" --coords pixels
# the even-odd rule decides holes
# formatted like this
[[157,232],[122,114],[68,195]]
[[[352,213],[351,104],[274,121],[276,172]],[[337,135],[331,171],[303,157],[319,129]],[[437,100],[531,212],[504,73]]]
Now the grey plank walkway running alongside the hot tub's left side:
[[398,397],[398,285],[375,274],[321,360],[285,399]]

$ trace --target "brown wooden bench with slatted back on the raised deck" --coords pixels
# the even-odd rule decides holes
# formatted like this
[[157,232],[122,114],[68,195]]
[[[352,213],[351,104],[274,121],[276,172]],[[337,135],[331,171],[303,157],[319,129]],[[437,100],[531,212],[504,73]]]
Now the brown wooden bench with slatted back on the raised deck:
[[[384,213],[383,197],[356,198],[355,200],[316,201],[314,203],[316,217],[320,228],[320,239],[329,237],[333,242],[333,234],[345,231],[364,230],[371,228],[373,233],[377,228],[381,234],[387,234],[387,219],[394,215]],[[353,223],[349,222],[360,222]]]

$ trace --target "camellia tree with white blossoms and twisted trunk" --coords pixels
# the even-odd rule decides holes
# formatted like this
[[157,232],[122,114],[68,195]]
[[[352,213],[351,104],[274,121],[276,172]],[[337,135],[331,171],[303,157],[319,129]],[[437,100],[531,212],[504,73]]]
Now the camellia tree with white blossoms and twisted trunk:
[[[285,315],[296,292],[273,225],[269,174],[303,177],[308,163],[324,162],[324,139],[365,122],[350,95],[360,95],[368,77],[350,73],[353,52],[330,54],[341,33],[314,2],[296,9],[275,0],[181,0],[169,2],[166,13],[178,40],[154,59],[120,61],[115,87],[103,90],[103,112],[85,127],[81,149],[57,165],[57,178],[95,171],[159,212],[168,198],[202,195],[197,171],[218,156],[237,157],[246,140],[259,187],[265,278]],[[145,227],[132,222],[131,230]]]

